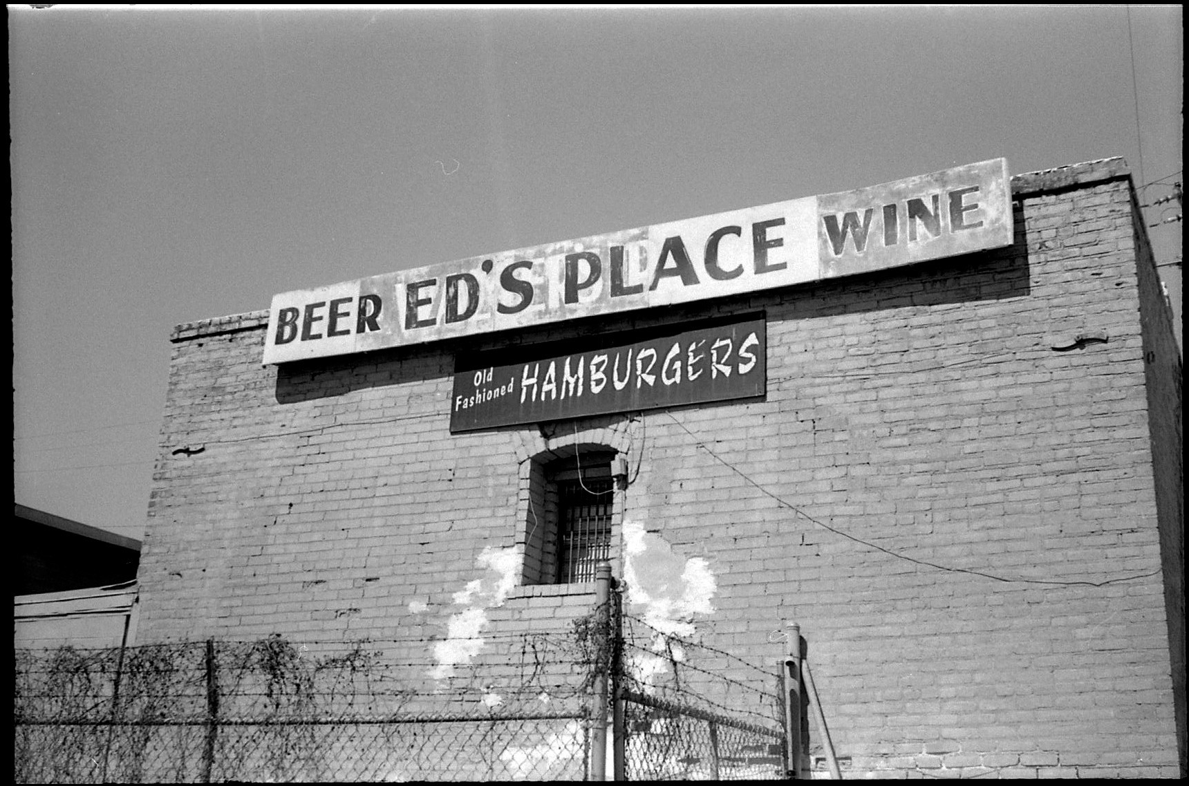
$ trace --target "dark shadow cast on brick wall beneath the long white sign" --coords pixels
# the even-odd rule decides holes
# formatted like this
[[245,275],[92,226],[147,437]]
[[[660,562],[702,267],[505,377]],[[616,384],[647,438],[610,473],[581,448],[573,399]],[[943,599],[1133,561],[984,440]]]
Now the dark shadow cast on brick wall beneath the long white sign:
[[[877,314],[905,308],[924,309],[954,303],[977,303],[1024,297],[1030,294],[1030,265],[1023,209],[1014,209],[1015,241],[1007,249],[949,257],[906,268],[830,279],[789,289],[743,295],[718,301],[594,316],[564,326],[507,332],[490,337],[454,339],[432,345],[396,347],[366,354],[288,363],[277,369],[276,397],[281,404],[332,398],[354,390],[442,379],[453,376],[455,357],[482,353],[527,356],[545,342],[568,342],[568,351],[584,351],[573,342],[606,333],[650,333],[667,326],[724,317],[756,310],[769,321],[822,319],[849,314]],[[633,339],[636,340],[636,339]],[[545,357],[545,356],[542,356]],[[465,361],[464,361],[465,364]]]

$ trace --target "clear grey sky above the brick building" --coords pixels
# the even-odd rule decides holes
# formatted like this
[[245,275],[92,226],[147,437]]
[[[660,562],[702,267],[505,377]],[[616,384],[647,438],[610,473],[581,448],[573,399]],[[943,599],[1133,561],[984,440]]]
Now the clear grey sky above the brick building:
[[[277,293],[999,157],[1121,156],[1169,197],[1182,34],[1178,6],[8,6],[15,501],[140,539],[170,331]],[[1149,229],[1178,340],[1181,227]]]

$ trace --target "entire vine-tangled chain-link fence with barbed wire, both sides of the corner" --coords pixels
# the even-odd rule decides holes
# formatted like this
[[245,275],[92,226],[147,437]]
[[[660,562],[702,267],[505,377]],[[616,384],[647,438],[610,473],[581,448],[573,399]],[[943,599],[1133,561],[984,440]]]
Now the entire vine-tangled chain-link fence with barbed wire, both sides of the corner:
[[785,775],[774,673],[610,605],[486,634],[448,669],[423,640],[18,652],[14,780],[590,780],[606,759],[629,780]]

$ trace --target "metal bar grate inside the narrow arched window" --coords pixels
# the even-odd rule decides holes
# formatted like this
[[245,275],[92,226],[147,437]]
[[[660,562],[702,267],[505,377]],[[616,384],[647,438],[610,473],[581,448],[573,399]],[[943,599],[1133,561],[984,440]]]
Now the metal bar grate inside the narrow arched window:
[[614,480],[585,477],[558,483],[558,581],[593,581],[611,557]]

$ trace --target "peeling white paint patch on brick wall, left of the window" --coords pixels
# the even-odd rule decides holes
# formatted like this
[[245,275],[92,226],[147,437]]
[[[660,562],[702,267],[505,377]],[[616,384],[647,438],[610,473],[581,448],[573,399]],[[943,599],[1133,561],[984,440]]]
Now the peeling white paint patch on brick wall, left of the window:
[[467,581],[454,593],[454,605],[464,606],[446,622],[446,639],[434,644],[438,665],[429,669],[430,679],[442,680],[454,675],[455,666],[465,666],[483,649],[479,636],[487,624],[487,609],[504,604],[516,586],[524,554],[517,546],[483,549],[478,564],[486,568],[483,578]]

